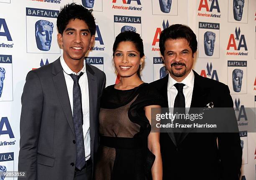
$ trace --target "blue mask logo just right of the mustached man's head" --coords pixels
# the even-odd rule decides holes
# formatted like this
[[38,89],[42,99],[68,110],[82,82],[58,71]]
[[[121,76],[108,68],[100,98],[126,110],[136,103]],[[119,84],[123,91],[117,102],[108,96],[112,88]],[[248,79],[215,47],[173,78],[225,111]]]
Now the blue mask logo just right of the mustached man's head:
[[211,31],[206,31],[204,35],[204,46],[205,46],[205,54],[207,56],[213,55],[214,42],[215,42],[215,33]]

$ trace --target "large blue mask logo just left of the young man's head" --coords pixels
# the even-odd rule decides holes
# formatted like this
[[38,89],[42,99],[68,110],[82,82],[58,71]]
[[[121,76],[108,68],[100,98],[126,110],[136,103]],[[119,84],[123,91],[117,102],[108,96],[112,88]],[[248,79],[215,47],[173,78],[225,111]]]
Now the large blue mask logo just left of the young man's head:
[[39,50],[49,51],[54,25],[48,20],[38,20],[35,24],[36,45]]

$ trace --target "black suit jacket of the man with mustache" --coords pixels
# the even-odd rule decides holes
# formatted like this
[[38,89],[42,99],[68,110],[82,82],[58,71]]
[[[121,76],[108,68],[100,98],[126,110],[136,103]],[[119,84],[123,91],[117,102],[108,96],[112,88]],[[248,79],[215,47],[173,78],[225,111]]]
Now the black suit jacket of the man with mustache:
[[[209,102],[214,107],[233,107],[227,85],[194,74],[190,107],[206,107]],[[168,77],[151,82],[164,96],[165,107]],[[242,161],[239,133],[182,133],[181,139],[177,143],[172,133],[160,133],[164,180],[238,180]]]

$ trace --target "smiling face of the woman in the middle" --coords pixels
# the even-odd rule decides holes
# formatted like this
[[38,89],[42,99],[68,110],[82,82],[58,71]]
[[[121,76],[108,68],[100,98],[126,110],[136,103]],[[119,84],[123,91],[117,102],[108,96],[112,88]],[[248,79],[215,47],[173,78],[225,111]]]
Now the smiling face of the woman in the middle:
[[138,76],[140,62],[143,62],[143,58],[133,42],[122,41],[118,44],[114,52],[114,64],[120,77]]

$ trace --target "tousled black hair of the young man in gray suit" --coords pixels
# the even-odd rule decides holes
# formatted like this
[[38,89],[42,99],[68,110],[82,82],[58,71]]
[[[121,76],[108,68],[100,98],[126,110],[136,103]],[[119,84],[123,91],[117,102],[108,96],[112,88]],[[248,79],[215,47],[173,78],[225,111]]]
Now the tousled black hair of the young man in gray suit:
[[83,20],[88,25],[91,35],[95,35],[96,24],[95,18],[92,16],[92,9],[88,10],[84,6],[75,3],[61,7],[57,18],[57,28],[59,33],[63,35],[69,21],[75,19]]

